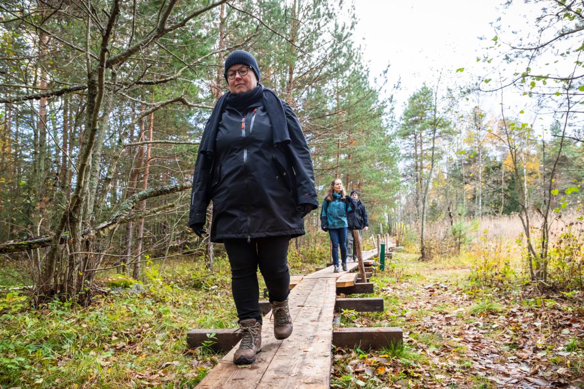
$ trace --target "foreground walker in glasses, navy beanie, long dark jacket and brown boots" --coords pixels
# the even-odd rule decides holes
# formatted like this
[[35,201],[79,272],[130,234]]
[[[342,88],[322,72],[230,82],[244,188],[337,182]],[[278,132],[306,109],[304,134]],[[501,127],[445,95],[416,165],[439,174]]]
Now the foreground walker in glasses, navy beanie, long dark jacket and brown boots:
[[193,173],[189,227],[201,236],[213,201],[210,239],[225,244],[242,341],[237,364],[252,363],[262,344],[258,267],[269,291],[274,336],[292,332],[288,244],[304,234],[318,208],[310,150],[298,118],[259,83],[258,62],[237,50],[225,59],[229,92],[207,121]]

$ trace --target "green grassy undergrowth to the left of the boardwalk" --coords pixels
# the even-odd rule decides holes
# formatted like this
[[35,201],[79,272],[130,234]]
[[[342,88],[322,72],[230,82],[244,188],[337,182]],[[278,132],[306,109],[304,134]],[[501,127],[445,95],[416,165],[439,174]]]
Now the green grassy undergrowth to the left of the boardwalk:
[[99,283],[109,293],[85,308],[0,295],[2,388],[191,388],[217,356],[187,351],[186,332],[236,325],[225,258],[213,271],[189,258],[148,265],[140,282]]

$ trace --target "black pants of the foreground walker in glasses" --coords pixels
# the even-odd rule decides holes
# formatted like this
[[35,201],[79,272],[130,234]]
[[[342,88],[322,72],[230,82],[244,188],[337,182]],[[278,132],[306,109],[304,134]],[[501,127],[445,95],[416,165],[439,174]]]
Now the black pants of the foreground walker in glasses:
[[231,264],[231,290],[239,320],[254,318],[262,323],[259,309],[258,267],[269,292],[270,302],[284,301],[290,293],[288,272],[289,236],[225,239]]

